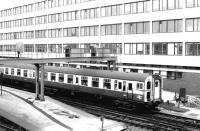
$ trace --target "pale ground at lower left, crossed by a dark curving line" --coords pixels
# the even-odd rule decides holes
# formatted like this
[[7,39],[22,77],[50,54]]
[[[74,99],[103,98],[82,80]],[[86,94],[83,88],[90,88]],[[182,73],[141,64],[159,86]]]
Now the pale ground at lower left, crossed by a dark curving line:
[[[31,131],[100,131],[99,117],[45,96],[34,100],[35,94],[3,87],[0,116]],[[124,123],[104,119],[104,131],[120,131]]]

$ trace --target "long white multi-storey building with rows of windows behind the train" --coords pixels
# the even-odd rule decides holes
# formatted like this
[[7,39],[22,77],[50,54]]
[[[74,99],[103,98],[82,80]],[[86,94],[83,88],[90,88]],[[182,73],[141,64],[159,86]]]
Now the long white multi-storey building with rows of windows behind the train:
[[0,11],[0,55],[64,57],[67,46],[111,48],[119,71],[159,73],[164,88],[198,95],[199,11],[200,0],[38,0]]

